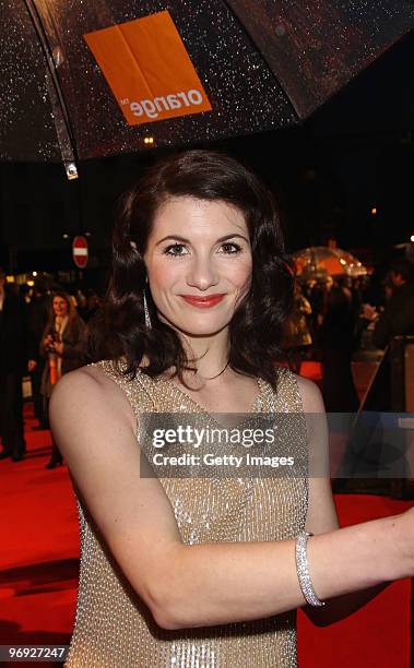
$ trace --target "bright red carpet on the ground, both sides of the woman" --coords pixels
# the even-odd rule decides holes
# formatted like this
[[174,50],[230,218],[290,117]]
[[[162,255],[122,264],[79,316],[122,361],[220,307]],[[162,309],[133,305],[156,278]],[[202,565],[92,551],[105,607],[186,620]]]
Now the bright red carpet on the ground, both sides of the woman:
[[[66,467],[45,469],[50,437],[32,431],[32,425],[27,413],[25,460],[0,462],[0,644],[68,643],[74,618],[79,537],[73,494]],[[397,514],[411,504],[336,497],[343,526]],[[409,668],[410,603],[411,581],[401,581],[326,629],[314,627],[299,610],[299,667]],[[17,665],[27,664],[10,664]]]

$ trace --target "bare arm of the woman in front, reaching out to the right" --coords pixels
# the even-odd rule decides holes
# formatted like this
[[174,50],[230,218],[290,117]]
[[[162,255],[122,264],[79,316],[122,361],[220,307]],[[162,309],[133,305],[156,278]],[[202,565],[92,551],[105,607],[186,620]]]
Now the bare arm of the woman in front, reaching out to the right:
[[[161,484],[140,477],[135,420],[97,369],[64,375],[50,402],[54,436],[97,527],[165,629],[269,617],[305,605],[295,540],[184,545]],[[413,514],[315,536],[308,560],[328,599],[414,572]]]

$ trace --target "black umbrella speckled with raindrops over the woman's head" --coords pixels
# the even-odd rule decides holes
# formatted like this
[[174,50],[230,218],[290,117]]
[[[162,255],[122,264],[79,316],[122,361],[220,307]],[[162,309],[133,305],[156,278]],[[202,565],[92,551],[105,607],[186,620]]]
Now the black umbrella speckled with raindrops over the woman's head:
[[[63,160],[69,177],[76,176],[79,159],[286,128],[414,23],[409,0],[0,0],[0,158]],[[176,103],[174,95],[157,95],[150,55],[144,65],[133,61],[137,71],[144,67],[146,97],[158,105],[157,118],[146,117],[145,100],[117,99],[117,73],[111,80],[103,74],[103,60],[84,37],[114,26],[122,32],[159,12],[168,12],[211,110],[196,108],[198,91]],[[142,47],[144,33],[135,46]],[[163,35],[153,34],[147,44],[170,67]],[[109,70],[118,56],[115,49]],[[166,118],[179,103],[194,108]],[[122,104],[138,124],[129,124]]]

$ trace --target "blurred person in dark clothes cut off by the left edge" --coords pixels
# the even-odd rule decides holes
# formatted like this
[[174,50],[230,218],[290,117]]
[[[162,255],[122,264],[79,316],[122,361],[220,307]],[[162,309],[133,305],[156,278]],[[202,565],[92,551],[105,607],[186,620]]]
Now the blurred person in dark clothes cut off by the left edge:
[[36,361],[29,359],[29,331],[24,299],[5,284],[0,267],[0,460],[20,462],[26,452],[22,380]]

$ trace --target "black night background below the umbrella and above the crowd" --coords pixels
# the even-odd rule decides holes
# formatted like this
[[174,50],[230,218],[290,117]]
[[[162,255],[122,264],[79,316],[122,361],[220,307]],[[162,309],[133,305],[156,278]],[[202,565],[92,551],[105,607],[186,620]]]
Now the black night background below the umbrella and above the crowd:
[[[193,145],[261,175],[277,195],[291,251],[334,238],[363,261],[387,263],[414,235],[413,62],[407,35],[300,126]],[[102,282],[117,198],[165,153],[87,160],[78,181],[62,165],[1,163],[0,264],[15,274],[74,269],[72,238],[87,234],[83,277]]]

